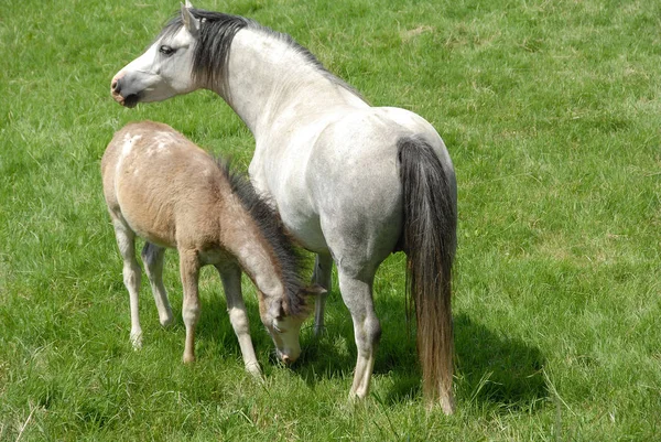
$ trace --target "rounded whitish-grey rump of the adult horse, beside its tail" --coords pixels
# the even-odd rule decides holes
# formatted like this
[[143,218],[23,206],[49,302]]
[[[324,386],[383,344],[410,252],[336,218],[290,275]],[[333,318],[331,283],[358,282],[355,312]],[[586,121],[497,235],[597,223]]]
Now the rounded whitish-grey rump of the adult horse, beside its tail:
[[441,137],[429,122],[404,109],[346,112],[317,139],[306,184],[336,261],[354,261],[357,269],[378,266],[398,248],[403,215],[398,149],[405,138],[425,140],[452,171]]

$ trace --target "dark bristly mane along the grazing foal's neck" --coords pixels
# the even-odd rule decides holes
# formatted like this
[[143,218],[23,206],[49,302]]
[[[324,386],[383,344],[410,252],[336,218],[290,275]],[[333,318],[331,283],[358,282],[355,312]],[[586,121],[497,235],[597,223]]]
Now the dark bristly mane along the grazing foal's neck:
[[227,179],[231,192],[239,198],[243,208],[257,223],[266,241],[271,246],[273,255],[280,266],[280,274],[284,284],[284,305],[289,309],[285,313],[301,316],[307,312],[305,298],[302,293],[303,281],[300,273],[304,268],[304,257],[294,246],[294,240],[285,230],[279,213],[271,208],[261,198],[245,174],[232,171],[228,160],[217,158],[216,164]]

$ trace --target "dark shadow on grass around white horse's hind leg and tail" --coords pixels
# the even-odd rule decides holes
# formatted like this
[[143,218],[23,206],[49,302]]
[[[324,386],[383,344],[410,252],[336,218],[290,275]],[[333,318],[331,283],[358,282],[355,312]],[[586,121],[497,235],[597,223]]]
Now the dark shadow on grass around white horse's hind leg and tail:
[[[401,403],[422,394],[415,331],[409,335],[401,305],[379,301],[382,309],[378,310],[393,312],[399,308],[402,313],[401,317],[380,315],[383,334],[373,374],[377,378],[387,375],[389,379],[387,391],[381,392],[384,403]],[[324,336],[314,338],[310,332],[303,341],[304,355],[294,370],[310,388],[324,379],[353,378],[356,348],[346,309],[345,313],[347,321],[329,317]],[[549,396],[541,371],[545,359],[539,348],[494,332],[466,313],[454,316],[454,333],[455,396],[459,401],[530,409]],[[344,351],[345,346],[348,351]]]

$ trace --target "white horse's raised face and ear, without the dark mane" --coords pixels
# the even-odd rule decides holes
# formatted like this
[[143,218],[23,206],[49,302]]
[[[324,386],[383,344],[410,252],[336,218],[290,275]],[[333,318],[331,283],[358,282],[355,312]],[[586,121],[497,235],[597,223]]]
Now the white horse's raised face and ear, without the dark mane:
[[110,93],[117,103],[134,107],[197,89],[192,66],[201,23],[191,8],[188,1],[182,6],[183,25],[174,28],[175,32],[166,32],[166,28],[142,55],[112,77]]

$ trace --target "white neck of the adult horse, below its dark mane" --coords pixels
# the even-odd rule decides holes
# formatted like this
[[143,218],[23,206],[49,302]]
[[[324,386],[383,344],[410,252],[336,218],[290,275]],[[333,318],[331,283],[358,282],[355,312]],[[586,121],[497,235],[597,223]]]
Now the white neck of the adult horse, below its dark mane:
[[217,91],[258,140],[286,126],[286,120],[300,122],[334,107],[367,106],[289,42],[261,30],[237,33],[227,72],[226,86]]

